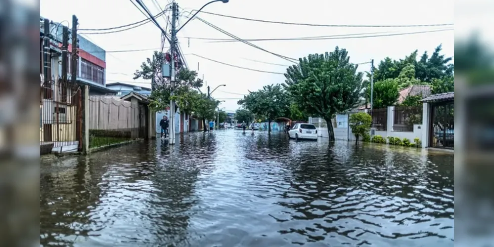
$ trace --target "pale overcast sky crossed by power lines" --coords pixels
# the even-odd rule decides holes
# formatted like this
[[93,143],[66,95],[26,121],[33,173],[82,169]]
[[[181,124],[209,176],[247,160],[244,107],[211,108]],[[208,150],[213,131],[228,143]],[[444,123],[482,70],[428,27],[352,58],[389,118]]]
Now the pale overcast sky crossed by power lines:
[[[159,3],[164,8],[170,0],[143,1],[153,14],[157,14],[161,11],[157,4]],[[198,9],[207,1],[178,0],[182,11],[179,23],[183,24],[186,17],[190,15],[184,11]],[[226,4],[222,2],[210,4],[204,11],[282,22],[332,25],[419,25],[453,23],[453,4],[450,0],[230,0]],[[82,29],[110,28],[145,18],[131,0],[41,0],[41,15],[45,18],[56,22],[70,21],[72,14],[77,15],[79,28]],[[167,12],[166,15],[169,14],[171,13]],[[299,38],[366,33],[383,35],[382,32],[412,33],[452,28],[451,26],[416,28],[308,27],[236,20],[206,13],[198,14],[198,16],[242,39]],[[163,17],[157,20],[161,25],[166,26]],[[160,31],[152,23],[124,32],[84,35],[84,37],[107,50],[107,83],[133,82],[132,74],[147,57],[152,56],[151,49],[161,46]],[[189,43],[189,39],[186,37],[231,39],[199,20],[189,22],[180,31],[178,37],[180,37],[179,42],[183,53],[187,54],[185,58],[190,69],[197,70],[197,64],[200,63],[198,73],[200,77],[204,76],[208,85],[214,88],[217,85],[226,84],[225,87],[220,87],[213,93],[215,98],[225,100],[221,107],[225,107],[226,110],[237,109],[237,100],[242,97],[242,94],[248,93],[247,90],[257,90],[263,85],[284,82],[284,76],[233,68],[199,58],[192,53],[236,66],[276,73],[286,71],[286,67],[280,65],[291,64],[242,42],[210,42],[190,39]],[[434,48],[441,43],[443,44],[443,52],[452,56],[453,39],[453,31],[444,31],[359,39],[253,41],[252,43],[271,52],[292,58],[307,56],[310,53],[332,51],[335,46],[339,46],[348,50],[351,62],[362,63],[374,59],[377,64],[387,56],[393,59],[403,58],[415,49],[418,49],[419,54],[426,50],[432,53]],[[112,52],[133,49],[146,50]],[[359,70],[368,71],[369,67],[369,64],[360,65]],[[141,86],[150,86],[150,82],[144,80],[135,82]]]

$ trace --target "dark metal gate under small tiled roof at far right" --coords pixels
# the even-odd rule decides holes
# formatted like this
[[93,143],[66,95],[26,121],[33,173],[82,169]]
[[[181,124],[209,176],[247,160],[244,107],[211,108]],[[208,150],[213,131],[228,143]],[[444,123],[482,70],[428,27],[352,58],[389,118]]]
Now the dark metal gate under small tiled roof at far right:
[[454,149],[454,101],[431,104],[429,132],[431,147]]

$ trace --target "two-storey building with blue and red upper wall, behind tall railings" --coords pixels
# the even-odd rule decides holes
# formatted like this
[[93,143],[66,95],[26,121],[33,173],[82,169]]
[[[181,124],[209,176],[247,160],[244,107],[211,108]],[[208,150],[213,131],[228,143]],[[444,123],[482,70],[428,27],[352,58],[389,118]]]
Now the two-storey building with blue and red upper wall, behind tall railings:
[[[90,94],[116,94],[105,87],[105,50],[78,36],[79,59],[76,84],[71,82],[72,49],[69,35],[67,78],[62,80],[64,26],[48,22],[49,41],[45,53],[45,18],[40,16],[40,146],[43,152],[73,152],[82,149],[81,85]],[[45,59],[46,58],[46,59]],[[45,61],[46,60],[46,61]]]

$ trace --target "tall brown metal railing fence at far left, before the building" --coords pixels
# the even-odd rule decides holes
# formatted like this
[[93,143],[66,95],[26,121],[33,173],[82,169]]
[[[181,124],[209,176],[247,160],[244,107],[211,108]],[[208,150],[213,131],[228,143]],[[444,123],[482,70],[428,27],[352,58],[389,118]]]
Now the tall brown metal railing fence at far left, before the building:
[[[74,152],[82,148],[82,91],[67,80],[41,81],[40,146]],[[63,148],[63,150],[61,150]]]

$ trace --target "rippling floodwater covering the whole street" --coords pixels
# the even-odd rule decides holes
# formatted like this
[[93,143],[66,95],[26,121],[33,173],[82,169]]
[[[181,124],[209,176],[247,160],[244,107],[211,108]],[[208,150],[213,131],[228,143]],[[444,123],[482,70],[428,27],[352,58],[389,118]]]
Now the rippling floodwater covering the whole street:
[[41,170],[44,246],[451,246],[453,154],[219,130]]

